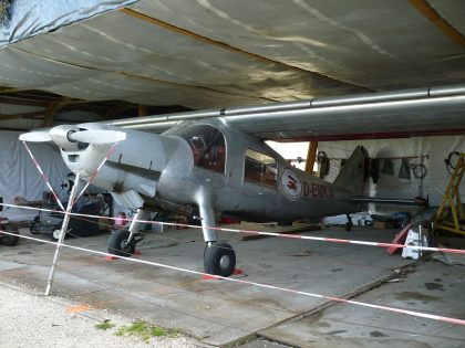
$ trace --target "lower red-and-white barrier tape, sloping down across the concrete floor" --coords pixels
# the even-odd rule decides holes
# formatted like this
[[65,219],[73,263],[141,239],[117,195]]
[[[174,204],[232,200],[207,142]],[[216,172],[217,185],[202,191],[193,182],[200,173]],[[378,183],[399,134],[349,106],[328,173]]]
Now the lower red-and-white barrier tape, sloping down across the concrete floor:
[[[18,235],[16,233],[10,233],[10,232],[7,232],[7,231],[1,231],[0,230],[0,232],[2,232],[4,234],[9,234],[9,235],[17,235],[17,236],[24,238],[24,239],[32,240],[32,241],[39,241],[41,243],[49,243],[49,244],[54,244],[54,245],[58,244],[58,243],[54,243],[54,242],[51,242],[51,241],[45,241],[45,240],[32,238],[32,236]],[[95,250],[91,250],[91,249],[69,245],[69,244],[64,244],[64,243],[62,243],[61,245],[65,246],[65,247],[73,249],[73,250],[83,251],[83,252],[97,254],[97,255],[102,255],[102,256],[114,256],[112,254],[95,251]],[[443,321],[443,323],[465,326],[465,320],[457,319],[457,318],[444,317],[444,316],[440,316],[440,315],[427,314],[427,313],[422,313],[422,312],[414,312],[414,310],[389,307],[389,306],[373,305],[373,304],[369,304],[369,303],[363,303],[363,302],[359,302],[359,300],[351,300],[351,299],[345,299],[345,298],[341,298],[341,297],[333,297],[333,296],[300,292],[300,291],[294,291],[294,289],[280,287],[280,286],[275,286],[275,285],[261,284],[261,283],[249,282],[249,281],[231,278],[231,277],[224,277],[224,276],[220,276],[220,275],[211,275],[211,274],[207,274],[207,273],[204,273],[204,272],[187,270],[187,268],[183,268],[183,267],[172,266],[172,265],[167,265],[167,264],[163,264],[163,263],[151,262],[151,261],[140,260],[140,259],[132,259],[132,257],[125,257],[125,256],[117,256],[117,257],[130,261],[130,262],[136,262],[136,263],[142,263],[142,264],[146,264],[146,265],[156,266],[156,267],[168,268],[168,270],[179,271],[179,272],[190,273],[190,274],[197,274],[197,275],[202,275],[202,276],[208,276],[208,277],[213,277],[213,278],[217,278],[217,280],[224,280],[224,281],[234,282],[234,283],[258,286],[258,287],[261,287],[261,288],[276,289],[276,291],[280,291],[280,292],[286,292],[286,293],[291,293],[291,294],[297,294],[297,295],[302,295],[302,296],[309,296],[309,297],[324,298],[324,299],[339,302],[339,303],[352,304],[352,305],[362,306],[362,307],[382,309],[382,310],[400,313],[400,314],[405,314],[405,315],[410,315],[410,316],[422,317],[422,318],[438,320],[438,321]]]

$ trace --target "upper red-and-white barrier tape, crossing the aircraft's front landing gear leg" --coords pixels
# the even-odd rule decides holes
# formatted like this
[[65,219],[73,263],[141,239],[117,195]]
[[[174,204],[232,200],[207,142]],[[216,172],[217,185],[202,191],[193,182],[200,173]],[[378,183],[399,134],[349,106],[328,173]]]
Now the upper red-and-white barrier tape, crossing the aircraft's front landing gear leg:
[[[0,205],[13,207],[13,208],[23,208],[23,209],[29,209],[29,210],[40,210],[40,211],[64,214],[64,212],[62,212],[62,211],[50,210],[50,209],[22,207],[22,205],[8,204],[8,203],[0,203]],[[70,215],[81,217],[81,218],[106,219],[106,220],[114,220],[114,221],[115,220],[121,220],[121,218],[80,214],[80,213],[70,213]],[[133,220],[125,219],[125,221],[131,222]],[[177,223],[177,222],[162,222],[162,221],[147,221],[147,220],[134,220],[134,221],[141,222],[141,223],[148,223],[148,224],[159,224],[159,225],[168,225],[168,226],[170,225],[170,226],[180,226],[180,228],[189,228],[189,229],[203,229],[203,226],[199,226],[199,225]],[[340,243],[340,244],[369,245],[369,246],[378,246],[378,247],[399,247],[399,249],[411,249],[411,250],[417,250],[417,251],[431,251],[431,252],[442,252],[442,253],[465,255],[465,250],[462,250],[462,249],[404,245],[404,244],[380,243],[380,242],[366,242],[366,241],[344,240],[344,239],[327,238],[327,236],[311,236],[311,235],[302,235],[302,234],[283,234],[283,233],[277,233],[277,232],[261,232],[261,231],[254,231],[254,230],[226,229],[226,228],[218,228],[218,226],[208,228],[208,229],[209,230],[216,230],[216,231],[224,231],[224,232],[232,232],[232,233],[249,233],[249,234],[257,234],[257,235],[267,235],[267,236],[287,238],[287,239],[299,239],[299,240],[309,240],[309,241],[319,241],[319,242],[331,242],[331,243]]]

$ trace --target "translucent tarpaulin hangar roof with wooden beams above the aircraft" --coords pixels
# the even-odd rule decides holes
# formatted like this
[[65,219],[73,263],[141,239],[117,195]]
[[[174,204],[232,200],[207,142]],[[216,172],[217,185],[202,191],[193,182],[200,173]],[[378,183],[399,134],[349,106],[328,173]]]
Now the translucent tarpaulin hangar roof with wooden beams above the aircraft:
[[464,17],[441,0],[17,0],[0,103],[204,109],[464,83]]

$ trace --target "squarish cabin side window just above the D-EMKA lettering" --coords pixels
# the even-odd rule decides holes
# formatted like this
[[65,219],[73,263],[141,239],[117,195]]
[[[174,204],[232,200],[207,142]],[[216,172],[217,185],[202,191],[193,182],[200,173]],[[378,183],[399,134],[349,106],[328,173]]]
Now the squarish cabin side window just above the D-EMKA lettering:
[[252,149],[246,150],[244,180],[276,188],[277,173],[275,158]]

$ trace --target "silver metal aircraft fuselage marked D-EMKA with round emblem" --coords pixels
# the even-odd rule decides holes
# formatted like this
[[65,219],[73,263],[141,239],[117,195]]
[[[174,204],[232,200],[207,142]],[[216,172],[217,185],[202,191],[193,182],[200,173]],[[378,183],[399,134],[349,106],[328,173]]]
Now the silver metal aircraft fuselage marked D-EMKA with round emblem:
[[[112,129],[95,124],[82,127]],[[292,167],[267,144],[225,120],[185,123],[163,135],[124,131],[126,140],[118,144],[93,183],[111,191],[126,208],[165,202],[164,208],[193,205],[202,211],[204,207],[210,214],[258,221],[292,221],[360,210],[359,204],[338,199],[350,190]],[[215,159],[208,141],[216,141]],[[197,145],[198,151],[204,151],[200,155],[194,149]],[[85,180],[108,149],[110,145],[90,144],[80,151],[62,150],[62,155],[70,169],[80,171]],[[197,156],[207,158],[198,162]]]

